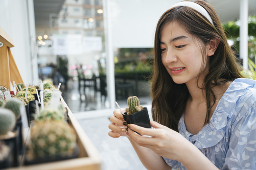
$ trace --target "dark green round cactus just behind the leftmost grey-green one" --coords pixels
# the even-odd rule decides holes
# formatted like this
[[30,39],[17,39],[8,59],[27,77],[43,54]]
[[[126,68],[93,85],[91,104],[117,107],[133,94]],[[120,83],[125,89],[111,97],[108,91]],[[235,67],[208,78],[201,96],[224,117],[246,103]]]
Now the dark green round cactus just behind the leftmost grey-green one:
[[18,119],[20,116],[21,107],[25,106],[23,102],[17,98],[9,99],[4,105],[4,108],[11,110],[15,114],[16,119]]

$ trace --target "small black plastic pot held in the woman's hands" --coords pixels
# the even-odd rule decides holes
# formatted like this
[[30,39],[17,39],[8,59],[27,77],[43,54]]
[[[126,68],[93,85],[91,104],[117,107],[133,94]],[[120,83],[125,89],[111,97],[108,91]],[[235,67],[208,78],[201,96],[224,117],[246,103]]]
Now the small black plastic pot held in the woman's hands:
[[128,124],[135,124],[141,127],[151,128],[147,108],[143,108],[143,110],[131,115],[127,115],[127,112],[125,112],[123,116],[124,120],[127,121]]

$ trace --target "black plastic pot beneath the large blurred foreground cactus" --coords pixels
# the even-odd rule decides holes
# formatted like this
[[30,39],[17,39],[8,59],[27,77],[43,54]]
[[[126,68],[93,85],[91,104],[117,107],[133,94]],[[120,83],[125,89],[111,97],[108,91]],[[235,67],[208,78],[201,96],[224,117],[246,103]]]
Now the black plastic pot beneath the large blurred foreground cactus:
[[32,165],[32,164],[38,164],[38,163],[46,163],[46,162],[52,162],[52,161],[64,161],[64,160],[68,160],[68,159],[74,159],[74,158],[78,158],[79,155],[79,147],[78,145],[76,145],[74,147],[74,151],[72,153],[72,155],[58,155],[55,157],[37,157],[34,158],[33,160],[28,160],[27,156],[25,157],[25,161],[24,164],[25,165]]

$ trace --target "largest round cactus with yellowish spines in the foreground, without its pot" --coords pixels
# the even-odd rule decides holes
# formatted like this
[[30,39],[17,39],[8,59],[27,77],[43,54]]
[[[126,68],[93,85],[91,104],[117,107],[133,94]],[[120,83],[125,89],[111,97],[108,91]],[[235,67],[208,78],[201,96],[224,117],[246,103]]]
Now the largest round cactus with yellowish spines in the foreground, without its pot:
[[38,121],[30,137],[33,154],[39,158],[71,155],[76,145],[75,131],[63,121]]

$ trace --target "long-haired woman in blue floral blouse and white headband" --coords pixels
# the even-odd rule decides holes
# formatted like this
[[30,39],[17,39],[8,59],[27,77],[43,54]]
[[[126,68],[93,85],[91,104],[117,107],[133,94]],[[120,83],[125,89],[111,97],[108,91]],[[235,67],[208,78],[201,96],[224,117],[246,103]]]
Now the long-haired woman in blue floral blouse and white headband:
[[256,169],[255,86],[240,74],[213,8],[180,2],[155,31],[153,128],[126,129],[114,110],[109,136],[127,136],[148,170]]

